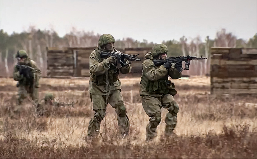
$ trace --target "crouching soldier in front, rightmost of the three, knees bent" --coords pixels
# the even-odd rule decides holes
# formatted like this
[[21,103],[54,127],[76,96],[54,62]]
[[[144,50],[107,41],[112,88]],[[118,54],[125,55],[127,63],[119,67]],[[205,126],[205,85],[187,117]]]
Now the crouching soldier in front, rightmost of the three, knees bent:
[[142,76],[139,94],[142,98],[144,111],[150,117],[146,127],[146,139],[152,140],[157,136],[156,128],[161,121],[161,108],[168,109],[165,118],[165,136],[171,136],[177,124],[177,113],[179,105],[174,100],[176,95],[174,83],[168,80],[181,77],[181,72],[176,68],[182,67],[182,63],[171,64],[166,62],[163,65],[155,66],[154,59],[166,59],[168,48],[166,45],[157,44],[152,48],[152,52],[145,55],[142,64]]

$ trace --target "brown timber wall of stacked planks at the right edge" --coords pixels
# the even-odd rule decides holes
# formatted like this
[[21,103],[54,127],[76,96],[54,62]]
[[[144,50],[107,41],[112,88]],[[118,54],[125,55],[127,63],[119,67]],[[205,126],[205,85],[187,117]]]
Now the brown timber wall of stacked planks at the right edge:
[[257,95],[257,49],[211,48],[211,94]]

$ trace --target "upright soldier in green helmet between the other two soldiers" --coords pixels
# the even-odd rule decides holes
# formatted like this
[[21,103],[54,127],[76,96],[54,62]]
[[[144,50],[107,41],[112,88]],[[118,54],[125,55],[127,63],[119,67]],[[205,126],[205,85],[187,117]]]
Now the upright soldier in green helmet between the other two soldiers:
[[126,106],[123,103],[121,95],[121,81],[118,78],[119,73],[127,74],[131,71],[131,65],[124,59],[121,68],[117,68],[117,59],[114,56],[101,58],[101,51],[117,51],[113,44],[115,39],[110,34],[103,34],[98,40],[98,46],[89,56],[90,80],[89,94],[93,103],[94,116],[89,121],[88,137],[94,137],[98,134],[100,123],[105,117],[106,106],[108,103],[115,108],[118,115],[118,126],[121,135],[126,137],[129,132],[129,120],[126,115]]

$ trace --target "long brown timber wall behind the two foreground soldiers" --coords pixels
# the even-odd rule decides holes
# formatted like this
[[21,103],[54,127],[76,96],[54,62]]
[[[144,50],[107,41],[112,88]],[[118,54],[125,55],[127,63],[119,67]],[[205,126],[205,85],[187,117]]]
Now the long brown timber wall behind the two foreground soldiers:
[[[47,77],[89,77],[89,55],[95,47],[46,48]],[[140,76],[144,55],[152,48],[118,49],[126,54],[139,54],[141,61],[132,61],[131,75]]]

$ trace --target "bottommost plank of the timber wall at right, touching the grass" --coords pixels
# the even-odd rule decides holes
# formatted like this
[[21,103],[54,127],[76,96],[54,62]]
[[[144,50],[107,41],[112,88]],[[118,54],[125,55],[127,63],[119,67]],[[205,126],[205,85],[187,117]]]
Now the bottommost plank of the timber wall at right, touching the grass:
[[211,94],[257,94],[257,89],[222,89],[213,88],[211,89]]

